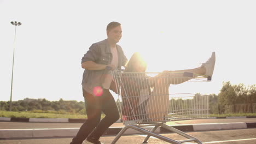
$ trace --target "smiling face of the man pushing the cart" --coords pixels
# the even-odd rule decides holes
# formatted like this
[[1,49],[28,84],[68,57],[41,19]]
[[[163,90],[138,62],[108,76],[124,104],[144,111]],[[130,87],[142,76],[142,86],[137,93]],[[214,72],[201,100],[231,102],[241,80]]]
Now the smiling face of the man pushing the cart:
[[108,35],[108,39],[112,42],[117,44],[119,42],[119,40],[122,37],[122,28],[121,26],[117,26],[113,29],[110,29],[109,31],[107,31],[107,35]]

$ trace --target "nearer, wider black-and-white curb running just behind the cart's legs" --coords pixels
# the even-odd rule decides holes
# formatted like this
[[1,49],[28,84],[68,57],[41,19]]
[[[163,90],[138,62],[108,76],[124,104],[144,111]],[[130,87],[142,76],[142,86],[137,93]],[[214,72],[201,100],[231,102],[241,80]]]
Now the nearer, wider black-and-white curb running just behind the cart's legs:
[[[181,131],[206,131],[206,130],[228,130],[228,129],[247,129],[256,128],[256,123],[205,123],[205,124],[181,124],[171,125]],[[103,135],[117,135],[124,127],[110,127]],[[153,127],[143,127],[151,130]],[[38,137],[73,137],[77,134],[79,128],[61,128],[61,129],[1,129],[0,140],[18,139],[18,138],[38,138]],[[154,133],[171,133],[165,128],[158,128]],[[127,129],[125,135],[142,134],[134,129]]]

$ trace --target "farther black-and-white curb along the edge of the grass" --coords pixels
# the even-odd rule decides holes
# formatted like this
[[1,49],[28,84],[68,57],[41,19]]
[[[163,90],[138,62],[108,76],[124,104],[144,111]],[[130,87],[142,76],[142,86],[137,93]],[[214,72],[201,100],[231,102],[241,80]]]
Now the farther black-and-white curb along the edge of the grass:
[[[256,116],[244,117],[210,117],[207,119],[215,118],[256,118]],[[84,123],[85,118],[16,118],[16,117],[0,117],[0,121],[5,122],[40,122],[40,123]],[[117,123],[122,122],[121,119]]]

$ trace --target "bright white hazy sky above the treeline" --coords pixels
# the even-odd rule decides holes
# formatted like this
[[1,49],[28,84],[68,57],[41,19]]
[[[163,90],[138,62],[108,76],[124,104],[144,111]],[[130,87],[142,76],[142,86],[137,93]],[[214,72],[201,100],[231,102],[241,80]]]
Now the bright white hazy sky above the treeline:
[[196,68],[216,52],[211,82],[171,86],[173,93],[218,94],[223,82],[255,84],[255,1],[14,1],[0,0],[0,101],[10,100],[15,26],[13,100],[83,101],[81,58],[123,28],[119,45],[140,52],[148,71]]

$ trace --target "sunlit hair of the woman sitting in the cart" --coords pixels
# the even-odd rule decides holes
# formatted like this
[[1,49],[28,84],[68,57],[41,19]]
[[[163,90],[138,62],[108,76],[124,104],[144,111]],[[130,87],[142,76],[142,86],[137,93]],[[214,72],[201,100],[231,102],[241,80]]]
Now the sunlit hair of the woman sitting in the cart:
[[126,63],[125,65],[125,72],[137,72],[135,71],[135,64],[140,63],[144,66],[144,71],[147,69],[147,63],[142,58],[141,54],[138,52],[133,53],[133,55],[130,58],[130,61]]

